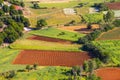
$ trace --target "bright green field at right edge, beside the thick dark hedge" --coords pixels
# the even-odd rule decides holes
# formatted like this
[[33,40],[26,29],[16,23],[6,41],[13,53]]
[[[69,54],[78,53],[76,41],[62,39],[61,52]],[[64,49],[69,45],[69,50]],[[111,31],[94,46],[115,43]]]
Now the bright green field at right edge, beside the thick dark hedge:
[[120,64],[120,40],[101,40],[92,43],[103,54],[108,54],[111,63]]

